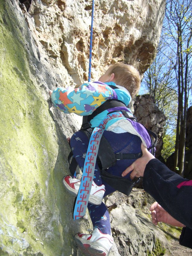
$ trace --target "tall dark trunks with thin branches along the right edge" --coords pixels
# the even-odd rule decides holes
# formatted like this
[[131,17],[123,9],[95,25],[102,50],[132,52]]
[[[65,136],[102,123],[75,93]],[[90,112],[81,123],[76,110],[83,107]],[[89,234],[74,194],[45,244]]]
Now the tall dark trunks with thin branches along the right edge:
[[188,98],[191,90],[191,39],[192,39],[192,0],[168,0],[166,4],[164,27],[164,44],[172,52],[171,61],[177,82],[178,108],[175,140],[174,169],[179,167],[183,176],[186,118]]

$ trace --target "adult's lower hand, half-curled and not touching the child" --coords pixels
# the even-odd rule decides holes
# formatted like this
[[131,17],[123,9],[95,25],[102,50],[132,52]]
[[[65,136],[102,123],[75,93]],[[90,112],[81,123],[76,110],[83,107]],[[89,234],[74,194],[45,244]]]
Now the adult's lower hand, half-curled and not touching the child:
[[151,211],[151,218],[154,225],[157,225],[158,222],[164,222],[166,224],[176,226],[176,227],[185,227],[178,220],[175,220],[168,212],[166,212],[161,205],[157,202],[151,204],[149,211]]

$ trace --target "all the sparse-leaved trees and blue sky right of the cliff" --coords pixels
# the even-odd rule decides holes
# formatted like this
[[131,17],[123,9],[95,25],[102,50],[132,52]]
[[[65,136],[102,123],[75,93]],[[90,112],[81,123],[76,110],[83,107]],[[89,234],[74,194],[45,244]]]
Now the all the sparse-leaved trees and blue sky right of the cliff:
[[[163,154],[173,150],[183,175],[186,115],[192,85],[192,0],[167,0],[156,60],[145,73],[143,86],[167,116]],[[170,143],[170,145],[168,145]],[[180,152],[179,152],[180,148]],[[166,153],[165,153],[166,152]]]

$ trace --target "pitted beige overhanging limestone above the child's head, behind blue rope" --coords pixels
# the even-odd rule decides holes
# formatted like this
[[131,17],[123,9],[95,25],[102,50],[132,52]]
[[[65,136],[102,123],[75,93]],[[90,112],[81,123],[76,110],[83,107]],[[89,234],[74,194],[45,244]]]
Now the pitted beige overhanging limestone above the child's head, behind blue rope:
[[[135,65],[141,74],[147,70],[156,53],[164,6],[165,1],[95,1],[93,79],[117,61]],[[91,9],[91,0],[33,0],[30,6],[30,29],[64,85],[87,80]]]

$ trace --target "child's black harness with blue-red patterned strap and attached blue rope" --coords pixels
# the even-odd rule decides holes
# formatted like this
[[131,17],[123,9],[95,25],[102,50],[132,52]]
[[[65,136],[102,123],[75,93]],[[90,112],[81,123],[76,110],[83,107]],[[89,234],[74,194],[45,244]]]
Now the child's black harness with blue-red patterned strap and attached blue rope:
[[[91,22],[91,35],[90,35],[88,82],[90,82],[91,80],[92,32],[93,32],[93,16],[94,16],[93,14],[94,14],[94,0],[92,0],[92,22]],[[114,85],[109,85],[109,86],[112,89],[118,89],[118,87]],[[120,108],[120,110],[109,112],[107,116],[100,122],[98,127],[95,127],[94,129],[92,129],[90,120],[92,120],[95,116],[97,116],[104,110],[117,108],[117,107]],[[135,184],[137,184],[140,181],[140,179],[138,178],[138,180],[133,182],[131,180],[124,179],[122,177],[111,175],[106,171],[107,168],[111,167],[112,165],[115,165],[117,160],[137,159],[142,156],[142,152],[138,154],[127,154],[127,153],[115,154],[114,153],[109,142],[105,139],[104,136],[102,136],[103,132],[105,131],[106,124],[108,123],[109,120],[113,118],[119,118],[119,117],[121,118],[124,117],[127,120],[129,120],[131,127],[134,129],[134,131],[138,136],[140,136],[140,134],[137,131],[137,129],[141,129],[142,134],[147,134],[148,136],[148,138],[146,137],[148,139],[147,145],[148,146],[152,145],[148,147],[148,150],[151,150],[153,154],[155,152],[154,148],[157,142],[156,134],[146,129],[146,127],[143,127],[142,124],[139,124],[137,122],[137,119],[132,115],[132,113],[127,111],[128,109],[126,111],[123,110],[123,108],[127,108],[127,106],[120,100],[107,100],[100,107],[94,110],[94,112],[91,115],[83,116],[83,122],[82,122],[80,131],[84,132],[87,135],[87,137],[89,138],[89,144],[88,144],[88,148],[85,156],[81,183],[80,183],[80,187],[79,187],[79,191],[76,197],[76,203],[74,207],[74,213],[73,213],[74,220],[77,220],[85,215],[89,196],[91,193],[96,161],[100,168],[101,178],[105,180],[111,187],[115,188],[116,190],[119,190],[125,195],[129,195],[131,193],[133,186],[135,186]],[[152,139],[149,136],[149,134],[151,134],[155,138],[154,143],[152,142]],[[143,142],[146,142],[146,140],[142,138],[142,136],[140,136],[140,138]],[[73,157],[70,162],[71,156],[73,156],[72,151],[68,156],[69,170],[71,172],[71,175],[76,177],[75,170],[77,167],[77,162],[75,157]]]

